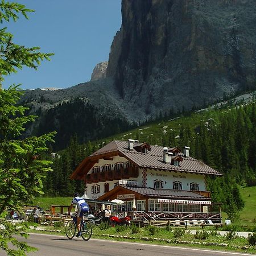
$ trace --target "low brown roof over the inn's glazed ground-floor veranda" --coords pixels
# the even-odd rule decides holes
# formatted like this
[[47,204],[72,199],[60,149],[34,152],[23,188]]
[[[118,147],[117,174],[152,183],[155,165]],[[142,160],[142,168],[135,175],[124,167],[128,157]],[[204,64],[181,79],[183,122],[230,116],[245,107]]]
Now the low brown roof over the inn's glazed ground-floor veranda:
[[145,187],[123,187],[117,186],[100,196],[99,200],[108,200],[113,195],[117,195],[118,192],[129,191],[129,193],[137,193],[150,198],[161,198],[161,199],[183,199],[183,200],[210,200],[209,197],[205,197],[194,193],[192,191],[174,190],[174,189],[155,189]]

